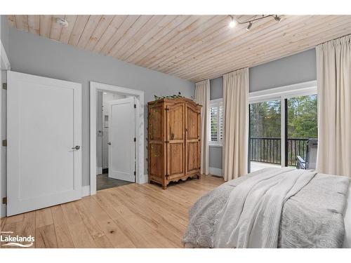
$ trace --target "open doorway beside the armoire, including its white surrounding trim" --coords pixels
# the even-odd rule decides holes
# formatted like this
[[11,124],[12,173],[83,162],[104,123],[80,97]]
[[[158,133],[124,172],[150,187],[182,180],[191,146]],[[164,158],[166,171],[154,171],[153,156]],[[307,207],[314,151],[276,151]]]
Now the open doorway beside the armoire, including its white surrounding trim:
[[144,93],[91,82],[91,194],[143,183]]

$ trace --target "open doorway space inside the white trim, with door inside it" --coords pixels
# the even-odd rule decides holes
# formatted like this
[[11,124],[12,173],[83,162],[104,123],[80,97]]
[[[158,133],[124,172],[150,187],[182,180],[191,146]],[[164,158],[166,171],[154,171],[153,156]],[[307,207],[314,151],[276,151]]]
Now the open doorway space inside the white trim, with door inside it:
[[135,182],[135,97],[98,91],[96,190]]

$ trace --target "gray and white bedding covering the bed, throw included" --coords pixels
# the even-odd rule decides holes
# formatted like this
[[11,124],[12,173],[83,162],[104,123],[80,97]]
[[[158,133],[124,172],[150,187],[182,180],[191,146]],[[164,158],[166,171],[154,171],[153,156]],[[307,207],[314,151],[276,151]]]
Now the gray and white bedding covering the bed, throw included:
[[[272,169],[270,175],[266,173],[268,172],[267,169]],[[261,175],[261,179],[262,176],[274,176],[274,173],[277,172],[274,168],[267,169],[258,172]],[[298,172],[296,171],[296,173]],[[276,246],[275,239],[277,239],[277,233],[275,232],[277,231],[274,232],[274,235],[270,235],[272,233],[267,234],[262,232],[262,229],[264,232],[271,232],[272,227],[270,226],[277,229],[275,216],[273,218],[274,220],[267,221],[268,224],[265,226],[266,222],[263,222],[263,220],[260,220],[260,217],[257,217],[260,213],[256,212],[260,211],[257,210],[255,206],[266,205],[268,209],[265,208],[263,210],[263,213],[265,213],[265,210],[272,210],[270,208],[271,206],[273,206],[273,210],[277,212],[276,210],[279,211],[279,207],[282,205],[279,205],[279,203],[270,205],[270,203],[266,201],[261,201],[260,191],[240,191],[241,187],[246,187],[246,184],[250,184],[250,182],[254,180],[252,177],[256,175],[256,173],[251,173],[239,177],[237,180],[229,181],[199,198],[190,210],[190,222],[185,236],[183,237],[185,247],[351,248],[351,184],[348,184],[347,177],[318,174],[310,183],[298,191],[297,194],[289,198],[283,207],[282,218],[279,224],[279,242]],[[293,179],[290,176],[286,178],[288,180]],[[265,179],[268,180],[268,178]],[[267,184],[267,182],[268,181],[262,183]],[[273,182],[277,182],[277,180],[273,180]],[[285,186],[287,182],[282,183],[284,183],[282,189],[278,189],[279,192],[277,192],[279,195],[278,201],[282,199],[282,196],[284,197],[284,191],[286,191],[284,189],[289,189],[289,187]],[[240,185],[241,187],[239,187]],[[256,184],[252,185],[255,187]],[[274,185],[272,185],[272,187],[274,187]],[[264,191],[266,188],[268,190],[270,189],[262,185],[258,190],[261,188],[264,188]],[[235,189],[235,191],[233,189]],[[279,194],[281,190],[283,193]],[[244,202],[244,204],[241,202],[241,195],[239,195],[238,198],[234,198],[235,201],[239,203],[239,209],[231,209],[232,206],[238,205],[238,203],[232,200],[232,196],[237,195],[235,192],[237,192],[237,194],[242,194],[244,197],[245,193],[246,195],[249,193],[249,196],[246,196],[244,200],[247,198],[250,200],[258,199],[256,201],[247,202],[247,205],[254,206],[252,209],[247,206],[253,213],[245,213],[245,209],[243,210],[243,208],[246,207],[246,202]],[[272,191],[272,195],[270,194],[270,196],[274,196],[275,194],[276,191]],[[270,196],[266,197],[268,198]],[[276,201],[273,200],[272,202],[274,203]],[[276,206],[278,209],[275,209]],[[273,213],[275,214],[274,211]],[[236,213],[239,213],[240,217],[241,215],[245,215],[245,219],[248,219],[248,222],[246,222],[246,220],[241,220],[240,222],[240,218],[238,221],[238,215],[236,215]],[[256,214],[256,216],[253,214]],[[270,216],[270,213],[267,215]],[[250,216],[252,218],[250,218]],[[278,217],[279,215],[277,218]],[[238,222],[234,222],[234,226],[231,226],[233,221]],[[258,222],[256,227],[251,225],[250,222],[252,221],[253,223]],[[273,236],[274,242],[270,240],[266,242],[266,240],[263,240],[267,236]],[[252,243],[252,241],[254,241],[254,243]],[[256,241],[260,241],[260,244],[256,244]],[[261,241],[264,241],[263,245]],[[272,245],[272,243],[274,244]]]

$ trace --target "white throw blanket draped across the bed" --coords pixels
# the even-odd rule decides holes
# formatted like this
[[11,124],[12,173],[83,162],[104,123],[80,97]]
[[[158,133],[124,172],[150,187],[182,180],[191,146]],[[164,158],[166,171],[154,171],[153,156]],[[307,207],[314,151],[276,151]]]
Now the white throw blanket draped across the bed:
[[215,248],[277,248],[284,203],[316,174],[268,169],[239,184],[218,214]]

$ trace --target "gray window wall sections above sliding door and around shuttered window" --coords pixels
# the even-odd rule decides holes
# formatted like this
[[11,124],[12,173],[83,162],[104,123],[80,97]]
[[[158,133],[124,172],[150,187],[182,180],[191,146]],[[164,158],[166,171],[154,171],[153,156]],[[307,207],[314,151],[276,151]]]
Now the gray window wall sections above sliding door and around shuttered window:
[[[250,92],[317,79],[316,52],[310,49],[249,69]],[[211,79],[210,99],[223,97],[223,78]],[[210,147],[209,166],[222,168],[222,148]]]

